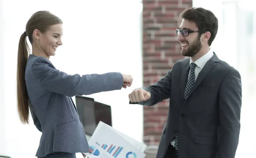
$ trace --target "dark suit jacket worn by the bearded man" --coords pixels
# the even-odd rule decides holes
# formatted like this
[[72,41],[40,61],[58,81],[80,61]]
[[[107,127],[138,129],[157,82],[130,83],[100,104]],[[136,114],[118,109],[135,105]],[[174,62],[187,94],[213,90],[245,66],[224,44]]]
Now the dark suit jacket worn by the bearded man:
[[239,72],[214,53],[184,100],[188,73],[189,59],[183,59],[160,81],[143,87],[151,99],[138,104],[151,106],[170,99],[157,158],[164,157],[177,131],[179,158],[234,158],[240,133]]

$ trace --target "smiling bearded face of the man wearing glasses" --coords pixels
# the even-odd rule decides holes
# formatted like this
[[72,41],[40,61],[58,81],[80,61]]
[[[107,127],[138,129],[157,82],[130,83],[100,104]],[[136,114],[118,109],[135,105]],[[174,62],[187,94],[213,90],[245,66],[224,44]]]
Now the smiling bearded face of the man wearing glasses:
[[[195,23],[183,19],[180,24],[180,30],[185,29],[198,31],[198,28],[195,25]],[[199,35],[198,32],[189,33],[188,36],[183,36],[181,33],[178,34],[177,40],[181,43],[181,54],[183,56],[195,56],[195,54],[197,54],[202,48],[200,37],[201,36]]]

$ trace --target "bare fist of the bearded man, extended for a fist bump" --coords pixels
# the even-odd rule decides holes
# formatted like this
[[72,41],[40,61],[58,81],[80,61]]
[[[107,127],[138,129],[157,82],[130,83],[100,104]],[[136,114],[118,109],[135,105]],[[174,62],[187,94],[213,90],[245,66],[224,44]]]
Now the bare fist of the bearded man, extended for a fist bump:
[[142,88],[137,88],[129,94],[129,99],[132,103],[146,101],[150,99],[150,97],[150,93]]

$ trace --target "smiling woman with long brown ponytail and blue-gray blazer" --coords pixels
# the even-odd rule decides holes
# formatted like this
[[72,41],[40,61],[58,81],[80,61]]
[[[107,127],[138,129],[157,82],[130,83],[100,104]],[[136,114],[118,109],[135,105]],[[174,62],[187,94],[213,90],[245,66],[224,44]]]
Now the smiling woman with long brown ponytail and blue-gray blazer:
[[[30,55],[26,36],[32,45]],[[38,158],[76,158],[76,152],[88,152],[71,96],[119,90],[131,86],[133,80],[121,73],[79,76],[58,71],[49,57],[62,45],[61,36],[62,21],[49,11],[38,11],[30,17],[19,41],[17,110],[24,124],[29,123],[30,110],[35,126],[42,132]]]

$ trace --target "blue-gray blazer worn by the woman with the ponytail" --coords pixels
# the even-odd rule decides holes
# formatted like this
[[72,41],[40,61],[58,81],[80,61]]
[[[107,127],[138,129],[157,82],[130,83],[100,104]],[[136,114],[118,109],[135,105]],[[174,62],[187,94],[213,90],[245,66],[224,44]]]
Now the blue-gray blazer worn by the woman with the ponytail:
[[84,128],[71,97],[120,90],[123,85],[121,73],[68,75],[58,71],[48,59],[32,54],[25,79],[30,112],[42,132],[38,157],[52,152],[88,152]]

